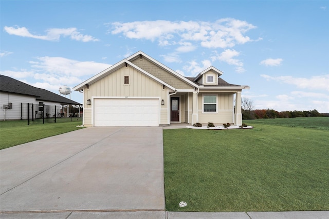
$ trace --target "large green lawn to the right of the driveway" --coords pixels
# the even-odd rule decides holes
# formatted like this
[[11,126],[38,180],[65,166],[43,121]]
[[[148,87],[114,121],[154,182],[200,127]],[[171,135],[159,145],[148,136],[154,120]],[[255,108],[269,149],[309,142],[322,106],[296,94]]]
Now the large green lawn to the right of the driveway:
[[329,118],[244,123],[163,130],[167,210],[329,210]]

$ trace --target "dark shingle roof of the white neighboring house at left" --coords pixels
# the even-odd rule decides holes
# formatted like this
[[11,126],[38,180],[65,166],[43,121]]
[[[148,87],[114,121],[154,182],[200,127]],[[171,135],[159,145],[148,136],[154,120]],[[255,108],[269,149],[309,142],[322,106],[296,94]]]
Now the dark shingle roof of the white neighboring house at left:
[[35,99],[40,101],[57,102],[61,104],[81,105],[78,102],[72,101],[64,96],[50,92],[45,89],[36,88],[23,82],[17,81],[14,78],[0,75],[0,91],[7,93],[16,93],[28,96],[35,96]]

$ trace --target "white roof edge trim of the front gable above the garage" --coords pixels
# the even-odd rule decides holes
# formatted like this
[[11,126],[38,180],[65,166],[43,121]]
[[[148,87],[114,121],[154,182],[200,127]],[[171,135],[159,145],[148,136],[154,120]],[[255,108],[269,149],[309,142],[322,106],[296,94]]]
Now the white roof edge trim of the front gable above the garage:
[[161,81],[159,78],[155,77],[154,75],[150,74],[149,72],[139,68],[138,66],[136,66],[135,64],[131,63],[129,60],[127,59],[122,59],[120,62],[114,64],[113,66],[101,71],[100,73],[96,74],[93,77],[90,77],[89,79],[87,79],[86,81],[84,81],[83,83],[75,86],[73,88],[73,90],[79,91],[82,90],[83,87],[85,87],[87,84],[93,84],[94,82],[98,81],[100,78],[105,77],[108,74],[111,74],[112,72],[114,72],[115,70],[123,67],[124,65],[130,65],[133,68],[137,69],[138,71],[142,72],[143,74],[147,75],[148,77],[151,77],[152,79],[154,79],[154,81],[165,85],[166,87],[168,87],[169,89],[172,89],[173,91],[176,90],[176,88],[174,88],[173,86],[167,84],[166,82]]

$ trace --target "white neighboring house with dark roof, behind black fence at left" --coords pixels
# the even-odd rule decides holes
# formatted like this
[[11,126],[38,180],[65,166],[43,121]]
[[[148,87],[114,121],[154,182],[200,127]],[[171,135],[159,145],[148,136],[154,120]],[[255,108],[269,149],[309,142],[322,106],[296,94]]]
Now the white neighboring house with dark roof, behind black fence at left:
[[[57,107],[61,107],[61,105],[81,105],[48,90],[36,88],[11,77],[0,75],[0,120],[20,120],[21,103],[39,104],[40,102],[44,105]],[[5,109],[8,106],[10,106],[10,109]]]

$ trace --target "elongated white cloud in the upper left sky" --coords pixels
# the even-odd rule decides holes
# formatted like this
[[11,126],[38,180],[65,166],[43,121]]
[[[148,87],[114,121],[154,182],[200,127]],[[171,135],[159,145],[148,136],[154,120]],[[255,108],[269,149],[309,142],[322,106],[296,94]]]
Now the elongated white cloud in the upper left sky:
[[46,41],[59,41],[61,36],[69,36],[71,39],[74,39],[76,41],[82,41],[82,42],[89,42],[89,41],[99,41],[99,39],[90,36],[90,35],[84,35],[81,34],[79,31],[77,31],[77,28],[51,28],[46,30],[46,35],[34,35],[29,32],[29,30],[26,27],[4,27],[4,30],[11,34],[11,35],[17,35],[17,36],[23,36],[23,37],[31,37],[35,39],[43,39]]

